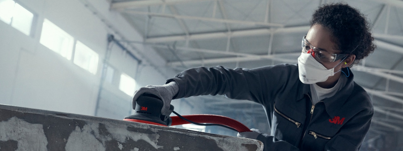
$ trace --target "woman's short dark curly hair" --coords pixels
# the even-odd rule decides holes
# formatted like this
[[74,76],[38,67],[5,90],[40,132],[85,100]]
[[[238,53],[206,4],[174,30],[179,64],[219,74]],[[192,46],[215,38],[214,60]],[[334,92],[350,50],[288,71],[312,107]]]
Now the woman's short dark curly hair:
[[332,40],[338,47],[336,49],[342,54],[355,55],[353,64],[358,64],[376,48],[370,33],[370,23],[364,14],[348,4],[322,5],[315,10],[310,20],[311,27],[315,24],[322,25],[332,33]]

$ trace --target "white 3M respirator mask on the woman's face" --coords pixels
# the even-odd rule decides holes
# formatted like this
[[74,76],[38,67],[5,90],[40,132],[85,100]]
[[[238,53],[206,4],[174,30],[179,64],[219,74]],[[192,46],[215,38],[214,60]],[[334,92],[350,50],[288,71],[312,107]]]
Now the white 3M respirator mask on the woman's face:
[[[343,60],[341,62],[343,62]],[[310,53],[302,52],[301,56],[298,57],[299,80],[305,84],[324,82],[328,79],[328,77],[333,76],[335,73],[341,71],[339,70],[334,72],[334,67],[327,69],[321,63],[316,61]]]

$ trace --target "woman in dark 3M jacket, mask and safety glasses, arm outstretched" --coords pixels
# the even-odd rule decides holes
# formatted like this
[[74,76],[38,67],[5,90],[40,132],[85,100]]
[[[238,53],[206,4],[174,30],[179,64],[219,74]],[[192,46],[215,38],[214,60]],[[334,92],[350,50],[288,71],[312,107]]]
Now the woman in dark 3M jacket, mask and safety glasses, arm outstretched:
[[172,98],[218,94],[247,99],[263,105],[271,134],[251,129],[238,136],[262,141],[265,151],[359,150],[374,110],[348,67],[376,48],[369,23],[357,9],[337,3],[318,8],[310,24],[298,64],[192,68],[166,85],[137,90],[133,100],[143,93],[158,95],[164,113]]

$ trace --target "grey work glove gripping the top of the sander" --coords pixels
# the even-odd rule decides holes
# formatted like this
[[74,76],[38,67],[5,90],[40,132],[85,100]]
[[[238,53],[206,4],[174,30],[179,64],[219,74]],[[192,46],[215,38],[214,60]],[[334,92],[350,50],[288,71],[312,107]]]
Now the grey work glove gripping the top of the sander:
[[137,98],[139,98],[139,96],[142,95],[143,93],[150,93],[161,98],[163,103],[161,114],[164,114],[166,111],[169,110],[172,98],[178,93],[178,91],[179,91],[179,85],[175,81],[171,81],[170,83],[165,85],[147,85],[145,87],[142,87],[134,92],[133,99],[131,102],[133,110],[135,110],[136,108]]

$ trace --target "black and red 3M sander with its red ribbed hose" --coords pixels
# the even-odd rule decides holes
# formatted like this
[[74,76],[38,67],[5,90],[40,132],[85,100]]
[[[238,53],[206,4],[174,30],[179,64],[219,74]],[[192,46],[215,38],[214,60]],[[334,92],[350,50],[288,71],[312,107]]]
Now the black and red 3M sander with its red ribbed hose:
[[[232,118],[213,114],[193,114],[181,116],[170,105],[168,111],[161,114],[164,103],[153,94],[144,93],[136,100],[135,113],[125,116],[125,121],[154,124],[159,126],[174,126],[182,124],[196,124],[203,126],[222,126],[237,132],[251,132],[247,126]],[[177,116],[169,116],[171,113]]]

